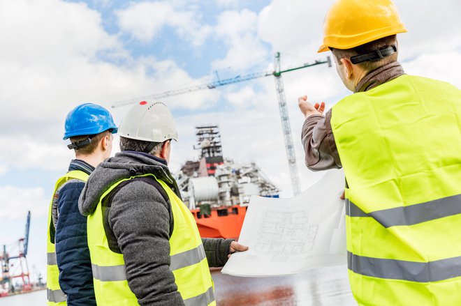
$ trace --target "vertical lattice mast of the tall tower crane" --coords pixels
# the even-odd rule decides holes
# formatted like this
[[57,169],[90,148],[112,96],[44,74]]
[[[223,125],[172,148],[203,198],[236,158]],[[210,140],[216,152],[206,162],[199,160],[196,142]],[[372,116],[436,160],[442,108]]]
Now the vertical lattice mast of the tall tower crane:
[[300,193],[300,180],[298,176],[298,167],[296,166],[295,146],[293,145],[293,136],[291,135],[290,117],[288,116],[288,107],[286,106],[284,80],[280,72],[280,52],[275,54],[274,61],[275,89],[279,100],[279,112],[281,128],[284,134],[286,157],[288,158],[288,168],[290,169],[291,187],[293,194]]

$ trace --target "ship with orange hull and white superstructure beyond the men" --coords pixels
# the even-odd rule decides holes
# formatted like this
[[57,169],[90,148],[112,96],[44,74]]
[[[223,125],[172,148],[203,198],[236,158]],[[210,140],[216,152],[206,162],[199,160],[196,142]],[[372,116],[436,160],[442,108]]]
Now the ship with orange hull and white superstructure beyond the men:
[[279,197],[254,163],[237,164],[224,158],[217,125],[196,127],[199,160],[189,160],[175,174],[184,204],[196,219],[200,236],[238,238],[251,195]]

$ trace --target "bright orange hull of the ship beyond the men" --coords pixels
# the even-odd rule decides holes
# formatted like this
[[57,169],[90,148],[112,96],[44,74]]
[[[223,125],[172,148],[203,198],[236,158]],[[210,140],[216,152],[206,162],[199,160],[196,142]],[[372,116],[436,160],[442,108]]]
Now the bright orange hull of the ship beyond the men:
[[247,207],[235,205],[214,208],[211,215],[200,214],[200,209],[193,209],[191,213],[202,238],[238,239]]

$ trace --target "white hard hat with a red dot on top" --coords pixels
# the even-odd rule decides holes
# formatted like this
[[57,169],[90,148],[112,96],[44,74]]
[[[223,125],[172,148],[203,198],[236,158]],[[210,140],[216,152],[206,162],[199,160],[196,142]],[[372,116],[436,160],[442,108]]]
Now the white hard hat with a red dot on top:
[[141,101],[133,105],[124,116],[118,134],[143,141],[177,141],[175,121],[170,110],[161,102]]

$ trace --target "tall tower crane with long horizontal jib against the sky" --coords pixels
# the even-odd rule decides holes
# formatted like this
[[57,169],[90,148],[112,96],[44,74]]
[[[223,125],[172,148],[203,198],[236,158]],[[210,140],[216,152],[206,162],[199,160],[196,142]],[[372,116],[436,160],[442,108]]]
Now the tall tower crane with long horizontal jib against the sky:
[[286,70],[281,70],[280,52],[277,52],[275,54],[273,71],[255,72],[255,73],[251,73],[248,75],[237,75],[236,77],[233,77],[230,79],[217,79],[217,81],[210,82],[210,83],[185,87],[183,89],[163,91],[162,93],[156,93],[153,95],[145,95],[143,97],[117,102],[115,103],[115,105],[112,105],[112,107],[121,107],[124,105],[131,105],[133,103],[139,102],[140,100],[156,100],[156,99],[170,97],[172,95],[182,95],[184,93],[190,93],[193,91],[201,91],[204,89],[216,89],[219,86],[225,86],[229,84],[245,82],[251,79],[258,79],[260,77],[268,77],[268,76],[273,75],[275,77],[275,88],[277,90],[277,98],[279,101],[281,127],[282,127],[283,134],[284,134],[286,157],[288,158],[288,167],[289,167],[290,176],[291,176],[291,186],[293,188],[293,194],[296,195],[300,193],[300,181],[299,181],[299,176],[298,176],[298,167],[296,166],[296,155],[295,155],[295,148],[293,145],[293,136],[291,135],[291,125],[290,125],[290,118],[288,116],[288,107],[286,105],[284,82],[283,82],[283,79],[281,78],[281,75],[285,72],[290,72],[293,70],[299,70],[302,68],[312,67],[312,66],[323,64],[323,63],[328,63],[328,67],[331,67],[330,56],[327,56],[327,59],[325,61],[314,61],[314,63],[305,63],[302,66],[298,66],[298,67],[294,67],[294,68],[290,68]]

